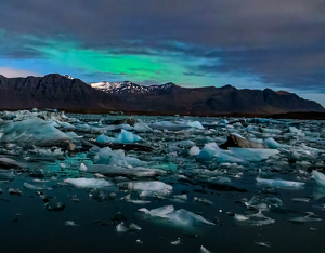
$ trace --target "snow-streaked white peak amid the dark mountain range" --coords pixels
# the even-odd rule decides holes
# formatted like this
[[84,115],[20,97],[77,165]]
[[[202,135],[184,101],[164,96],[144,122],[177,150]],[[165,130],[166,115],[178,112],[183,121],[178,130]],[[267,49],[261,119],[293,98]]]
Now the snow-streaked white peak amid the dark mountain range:
[[169,82],[162,85],[140,85],[130,81],[123,82],[96,82],[90,84],[92,88],[109,93],[109,94],[144,94],[150,92],[160,92],[160,91],[168,91],[172,88],[173,83]]

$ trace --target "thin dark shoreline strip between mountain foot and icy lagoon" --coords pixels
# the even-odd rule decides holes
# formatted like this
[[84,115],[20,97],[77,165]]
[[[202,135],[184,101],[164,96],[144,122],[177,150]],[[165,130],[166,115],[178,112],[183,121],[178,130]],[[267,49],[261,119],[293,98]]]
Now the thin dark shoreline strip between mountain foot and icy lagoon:
[[[0,111],[16,111],[16,110],[30,110],[31,108],[1,108]],[[38,108],[43,110],[46,108]],[[113,111],[108,109],[75,109],[75,108],[57,108],[58,111],[65,111],[67,114],[90,114],[90,115],[108,115],[112,112],[123,112],[125,116],[144,115],[144,116],[176,116],[169,111]],[[114,115],[112,114],[112,115]],[[285,114],[243,114],[243,112],[229,112],[229,114],[180,114],[179,116],[191,117],[245,117],[245,118],[272,118],[272,119],[301,119],[301,120],[325,120],[325,112],[320,111],[294,111]]]

